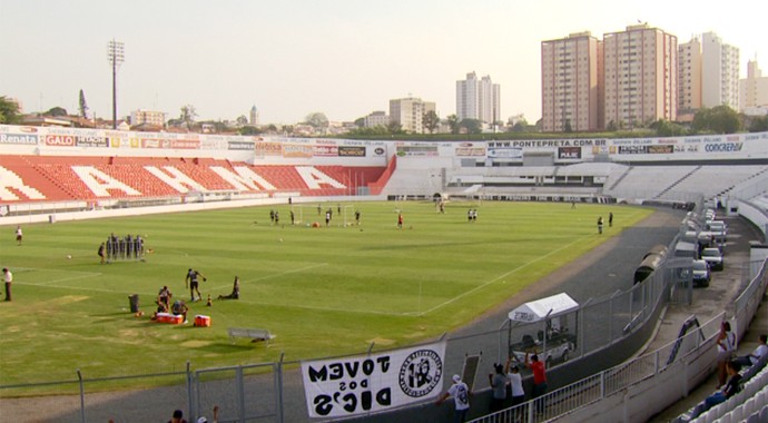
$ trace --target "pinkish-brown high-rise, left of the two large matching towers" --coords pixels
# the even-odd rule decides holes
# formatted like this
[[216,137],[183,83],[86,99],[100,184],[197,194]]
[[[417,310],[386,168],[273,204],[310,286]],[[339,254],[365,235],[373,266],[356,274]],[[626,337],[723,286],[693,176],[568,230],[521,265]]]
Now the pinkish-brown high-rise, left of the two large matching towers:
[[602,127],[602,42],[589,31],[541,43],[542,129]]

